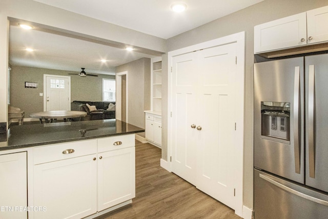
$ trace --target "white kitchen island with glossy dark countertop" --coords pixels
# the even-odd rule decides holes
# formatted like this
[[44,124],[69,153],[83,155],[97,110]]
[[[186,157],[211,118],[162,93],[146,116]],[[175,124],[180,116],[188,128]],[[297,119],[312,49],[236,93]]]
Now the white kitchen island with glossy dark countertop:
[[94,218],[131,203],[134,133],[143,131],[118,120],[10,127],[0,218]]

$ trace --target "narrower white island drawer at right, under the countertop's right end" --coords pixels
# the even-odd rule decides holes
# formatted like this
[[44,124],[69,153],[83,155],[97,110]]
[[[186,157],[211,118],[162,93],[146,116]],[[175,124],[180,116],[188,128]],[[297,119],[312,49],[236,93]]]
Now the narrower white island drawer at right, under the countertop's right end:
[[134,145],[134,134],[98,138],[98,153],[121,148],[134,147]]

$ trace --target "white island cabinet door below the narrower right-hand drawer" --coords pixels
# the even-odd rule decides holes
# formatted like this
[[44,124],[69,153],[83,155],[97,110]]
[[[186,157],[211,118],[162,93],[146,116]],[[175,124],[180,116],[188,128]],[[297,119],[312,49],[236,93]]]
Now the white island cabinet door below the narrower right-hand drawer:
[[98,211],[135,197],[135,148],[98,154]]

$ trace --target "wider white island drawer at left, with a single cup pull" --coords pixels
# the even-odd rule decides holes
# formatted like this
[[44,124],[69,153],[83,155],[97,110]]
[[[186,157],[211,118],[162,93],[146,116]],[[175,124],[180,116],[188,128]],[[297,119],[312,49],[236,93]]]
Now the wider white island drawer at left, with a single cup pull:
[[95,153],[97,153],[97,140],[40,146],[33,149],[33,164],[43,164]]

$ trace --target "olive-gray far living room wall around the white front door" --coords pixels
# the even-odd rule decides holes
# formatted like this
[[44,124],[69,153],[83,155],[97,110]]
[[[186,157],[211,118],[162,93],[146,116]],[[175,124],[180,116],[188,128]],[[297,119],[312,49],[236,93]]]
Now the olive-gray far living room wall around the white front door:
[[[99,74],[98,77],[78,75],[78,72],[11,66],[10,105],[25,111],[25,117],[30,113],[44,111],[43,96],[44,74],[71,76],[71,101],[102,101],[103,78],[115,79],[115,75]],[[25,82],[36,82],[37,88],[25,88]]]

